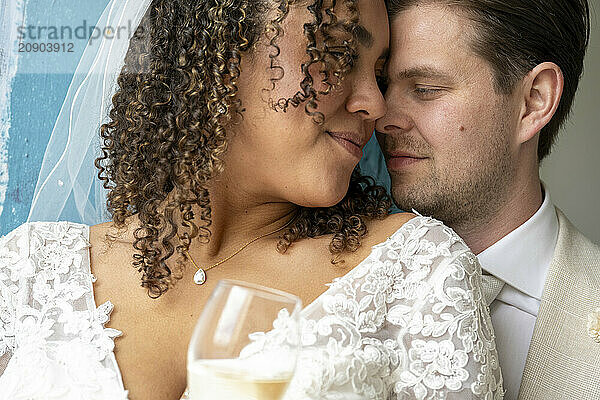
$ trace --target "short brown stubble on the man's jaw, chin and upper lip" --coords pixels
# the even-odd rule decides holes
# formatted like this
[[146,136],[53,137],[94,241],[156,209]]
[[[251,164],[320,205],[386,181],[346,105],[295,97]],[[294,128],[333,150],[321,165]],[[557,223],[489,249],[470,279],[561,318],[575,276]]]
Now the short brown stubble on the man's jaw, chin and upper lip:
[[436,152],[420,138],[386,136],[384,146],[430,157],[425,161],[424,173],[390,171],[396,205],[402,210],[414,209],[433,216],[456,230],[489,220],[506,201],[515,174],[508,144],[501,139],[508,124],[496,122],[497,126],[489,127],[496,132],[481,132],[482,141],[475,145],[478,149],[455,154],[454,163],[436,162]]

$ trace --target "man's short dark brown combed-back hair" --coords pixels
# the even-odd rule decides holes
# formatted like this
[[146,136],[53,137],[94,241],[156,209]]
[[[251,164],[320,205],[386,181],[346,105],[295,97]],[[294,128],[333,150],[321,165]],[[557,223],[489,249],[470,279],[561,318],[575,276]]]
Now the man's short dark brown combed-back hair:
[[391,18],[414,5],[441,4],[462,12],[474,22],[472,49],[492,66],[499,93],[511,93],[540,63],[558,65],[564,89],[554,117],[540,132],[538,159],[550,153],[583,72],[590,36],[587,0],[387,0],[387,4]]

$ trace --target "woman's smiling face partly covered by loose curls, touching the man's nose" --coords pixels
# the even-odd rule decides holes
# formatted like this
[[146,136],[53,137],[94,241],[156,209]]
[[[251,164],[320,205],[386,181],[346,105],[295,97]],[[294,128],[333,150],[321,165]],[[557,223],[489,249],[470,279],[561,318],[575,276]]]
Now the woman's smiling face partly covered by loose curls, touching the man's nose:
[[[305,6],[292,7],[282,23],[276,60],[284,75],[274,90],[265,91],[273,78],[269,68],[273,48],[261,45],[263,40],[242,58],[238,96],[245,111],[243,120],[230,128],[224,160],[224,173],[236,189],[260,194],[267,201],[310,207],[331,206],[344,197],[375,120],[385,114],[375,72],[382,68],[388,49],[387,12],[383,0],[360,0],[358,9],[359,57],[339,89],[319,96],[315,111],[323,115],[322,125],[306,113],[306,103],[283,112],[267,101],[287,99],[301,90],[301,65],[308,60],[303,26],[313,20]],[[315,89],[324,89],[318,86],[318,67],[311,75]]]

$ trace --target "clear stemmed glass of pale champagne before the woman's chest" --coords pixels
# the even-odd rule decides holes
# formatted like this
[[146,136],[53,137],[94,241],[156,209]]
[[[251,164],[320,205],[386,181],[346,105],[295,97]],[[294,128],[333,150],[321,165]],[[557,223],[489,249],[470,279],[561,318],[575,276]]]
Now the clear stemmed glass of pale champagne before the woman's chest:
[[301,307],[289,293],[219,281],[188,348],[189,399],[282,399],[300,351]]

